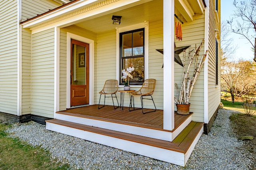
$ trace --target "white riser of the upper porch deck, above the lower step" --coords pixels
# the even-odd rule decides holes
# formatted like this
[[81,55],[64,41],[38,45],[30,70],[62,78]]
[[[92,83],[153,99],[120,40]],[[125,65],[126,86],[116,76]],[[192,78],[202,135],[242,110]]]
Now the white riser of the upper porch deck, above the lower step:
[[171,142],[192,121],[192,114],[173,131],[156,129],[152,127],[142,127],[139,124],[136,124],[136,123],[130,124],[128,122],[125,123],[124,121],[118,122],[110,119],[102,119],[102,118],[100,119],[92,116],[73,115],[73,114],[69,114],[61,111],[56,113],[56,119]]

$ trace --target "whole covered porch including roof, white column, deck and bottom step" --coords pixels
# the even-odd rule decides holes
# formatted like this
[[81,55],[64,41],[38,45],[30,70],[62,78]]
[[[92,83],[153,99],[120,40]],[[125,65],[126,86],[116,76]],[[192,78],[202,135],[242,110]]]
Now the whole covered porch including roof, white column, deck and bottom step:
[[[193,99],[198,104],[194,105],[197,111],[194,114],[198,117],[196,120],[201,122],[192,121],[193,113],[175,113],[174,82],[175,79],[180,82],[183,69],[174,63],[174,42],[176,41],[176,47],[194,45],[204,38],[204,15],[196,18],[196,24],[201,25],[199,31],[196,24],[191,24],[196,25],[194,29],[190,29],[189,24],[195,13],[203,14],[203,2],[74,0],[69,5],[24,22],[23,27],[30,28],[32,34],[50,34],[54,39],[54,119],[46,121],[46,129],[185,166],[203,132],[204,87],[202,84],[197,87],[197,98]],[[183,18],[186,25],[184,37],[188,37],[186,41],[181,42],[174,38],[174,14]],[[112,24],[111,18],[114,15],[122,16],[120,25]],[[129,31],[138,29],[144,32],[140,37],[144,39],[144,53],[140,56],[144,62],[141,67],[142,80],[156,79],[153,98],[157,110],[142,114],[141,110],[128,111],[128,107],[124,107],[124,110],[114,109],[112,102],[107,102],[106,105],[109,106],[98,109],[95,105],[99,101],[98,92],[102,90],[106,80],[118,80],[119,90],[123,89],[120,80],[120,70],[123,69],[120,51],[124,48],[120,48],[120,33],[128,34]],[[48,33],[48,30],[52,32]],[[88,97],[90,106],[72,108],[74,105],[70,104],[71,76],[74,77],[70,74],[73,62],[70,58],[71,39],[89,45],[86,67],[86,72],[89,72],[86,76],[88,89],[84,91],[88,92],[85,96]],[[163,49],[164,55],[156,49]],[[81,57],[76,61],[80,60]],[[138,90],[140,86],[141,84],[134,84],[132,88]],[[124,106],[128,106],[129,102],[130,100],[126,100]],[[136,103],[140,104],[139,99]],[[145,102],[144,106],[152,108],[149,102]]]

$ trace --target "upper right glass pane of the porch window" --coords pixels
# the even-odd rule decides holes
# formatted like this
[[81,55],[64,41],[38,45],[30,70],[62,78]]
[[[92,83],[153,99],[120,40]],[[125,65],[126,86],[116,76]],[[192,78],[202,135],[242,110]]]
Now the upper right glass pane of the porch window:
[[132,56],[143,55],[143,31],[133,33]]

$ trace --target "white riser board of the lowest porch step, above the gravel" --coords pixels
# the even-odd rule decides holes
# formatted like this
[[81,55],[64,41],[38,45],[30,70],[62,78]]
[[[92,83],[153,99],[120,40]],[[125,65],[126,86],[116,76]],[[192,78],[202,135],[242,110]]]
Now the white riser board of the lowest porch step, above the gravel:
[[200,138],[203,132],[203,127],[202,127],[200,133],[198,134],[196,139],[193,141],[190,149],[188,150],[187,153],[184,154],[184,153],[176,152],[173,150],[153,147],[153,146],[149,146],[141,143],[127,141],[124,139],[118,139],[115,137],[101,135],[98,133],[92,133],[92,132],[84,131],[81,129],[66,127],[63,125],[58,125],[58,124],[49,123],[49,122],[46,122],[46,129],[51,131],[56,131],[59,133],[64,133],[66,135],[78,137],[78,138],[92,141],[95,143],[100,143],[102,145],[106,145],[109,147],[126,150],[128,152],[140,154],[143,156],[148,156],[150,158],[162,160],[162,161],[176,164],[179,166],[186,165],[186,162],[188,161],[188,158],[192,153],[194,146],[196,145],[198,139]]

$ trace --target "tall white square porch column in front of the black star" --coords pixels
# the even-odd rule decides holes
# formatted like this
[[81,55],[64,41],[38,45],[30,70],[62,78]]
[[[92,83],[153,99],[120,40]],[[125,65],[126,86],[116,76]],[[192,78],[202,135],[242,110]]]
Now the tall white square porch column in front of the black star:
[[164,129],[174,129],[174,0],[164,0]]

